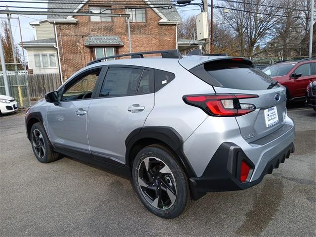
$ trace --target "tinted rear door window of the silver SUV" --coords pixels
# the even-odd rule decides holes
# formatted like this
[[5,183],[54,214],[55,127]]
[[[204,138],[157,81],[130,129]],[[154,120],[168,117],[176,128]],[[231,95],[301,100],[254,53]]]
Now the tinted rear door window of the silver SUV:
[[139,68],[109,67],[100,97],[135,95],[143,71]]

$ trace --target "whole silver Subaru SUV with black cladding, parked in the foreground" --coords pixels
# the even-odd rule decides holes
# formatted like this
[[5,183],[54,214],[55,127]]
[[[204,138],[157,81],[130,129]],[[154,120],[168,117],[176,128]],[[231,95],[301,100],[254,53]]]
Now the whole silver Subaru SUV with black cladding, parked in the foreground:
[[[120,56],[131,59],[110,60]],[[46,94],[26,131],[40,162],[66,155],[124,174],[151,212],[173,218],[206,192],[260,183],[289,157],[285,103],[246,58],[131,53],[94,60]]]

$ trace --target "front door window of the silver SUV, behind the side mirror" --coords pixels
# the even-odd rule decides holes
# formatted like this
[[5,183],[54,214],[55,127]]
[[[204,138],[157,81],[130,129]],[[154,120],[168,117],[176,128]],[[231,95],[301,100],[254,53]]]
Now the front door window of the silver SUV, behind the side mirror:
[[91,98],[95,83],[101,68],[80,75],[79,80],[66,89],[61,96],[61,101]]

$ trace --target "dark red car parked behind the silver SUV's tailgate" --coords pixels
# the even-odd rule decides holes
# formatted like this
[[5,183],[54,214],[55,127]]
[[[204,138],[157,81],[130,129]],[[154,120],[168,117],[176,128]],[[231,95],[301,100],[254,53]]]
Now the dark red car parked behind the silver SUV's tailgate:
[[316,80],[316,58],[280,61],[263,71],[286,87],[287,101],[305,99],[308,84]]

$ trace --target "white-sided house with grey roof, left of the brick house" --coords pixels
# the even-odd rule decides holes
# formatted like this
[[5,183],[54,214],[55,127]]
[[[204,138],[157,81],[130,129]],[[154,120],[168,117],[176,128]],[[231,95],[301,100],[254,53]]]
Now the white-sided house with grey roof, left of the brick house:
[[35,28],[36,40],[23,42],[29,69],[33,69],[34,74],[59,73],[53,24],[44,19],[30,22],[30,25]]

